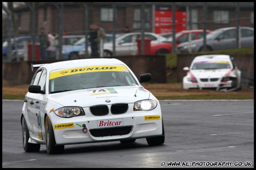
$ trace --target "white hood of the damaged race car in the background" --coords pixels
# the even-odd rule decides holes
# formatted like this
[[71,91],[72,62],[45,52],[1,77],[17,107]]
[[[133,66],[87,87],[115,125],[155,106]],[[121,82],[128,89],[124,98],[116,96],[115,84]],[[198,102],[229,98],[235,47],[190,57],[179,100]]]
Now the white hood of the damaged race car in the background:
[[222,78],[231,69],[191,70],[195,78]]

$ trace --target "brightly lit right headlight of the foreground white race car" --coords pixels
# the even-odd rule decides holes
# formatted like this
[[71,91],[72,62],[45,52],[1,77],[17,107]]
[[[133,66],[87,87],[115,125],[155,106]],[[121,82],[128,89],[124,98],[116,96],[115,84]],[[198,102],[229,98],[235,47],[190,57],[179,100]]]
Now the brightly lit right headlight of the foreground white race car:
[[155,100],[140,100],[134,103],[133,111],[151,111],[156,108]]

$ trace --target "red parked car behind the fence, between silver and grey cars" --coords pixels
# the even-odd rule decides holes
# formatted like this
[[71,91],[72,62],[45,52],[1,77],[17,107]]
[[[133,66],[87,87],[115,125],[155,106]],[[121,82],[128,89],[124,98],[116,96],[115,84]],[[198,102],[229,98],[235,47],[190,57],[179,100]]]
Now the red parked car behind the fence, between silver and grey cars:
[[[206,30],[206,33],[210,33],[210,30]],[[201,39],[204,37],[204,30],[183,30],[175,34],[176,45],[182,42],[187,42],[189,33],[191,33],[191,40]],[[168,54],[172,53],[172,36],[168,37],[165,41],[157,44],[151,44],[151,55]]]

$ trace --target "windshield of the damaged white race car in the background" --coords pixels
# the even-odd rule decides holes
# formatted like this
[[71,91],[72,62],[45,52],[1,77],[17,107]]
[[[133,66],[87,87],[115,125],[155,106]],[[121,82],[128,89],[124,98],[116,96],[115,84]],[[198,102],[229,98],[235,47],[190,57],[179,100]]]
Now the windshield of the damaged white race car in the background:
[[230,69],[229,61],[199,61],[193,64],[192,70],[203,69]]

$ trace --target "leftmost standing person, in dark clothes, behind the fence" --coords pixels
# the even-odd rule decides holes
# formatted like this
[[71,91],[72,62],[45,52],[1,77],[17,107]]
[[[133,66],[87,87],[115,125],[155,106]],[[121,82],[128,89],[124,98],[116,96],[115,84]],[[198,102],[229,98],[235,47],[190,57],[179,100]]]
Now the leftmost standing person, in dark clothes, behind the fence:
[[48,36],[46,32],[44,32],[44,27],[40,28],[40,35],[39,35],[39,43],[40,43],[40,50],[41,50],[41,59],[47,59],[46,56],[46,48],[48,47]]

